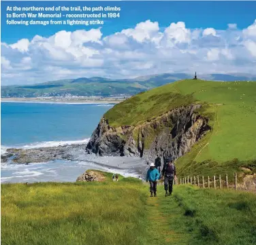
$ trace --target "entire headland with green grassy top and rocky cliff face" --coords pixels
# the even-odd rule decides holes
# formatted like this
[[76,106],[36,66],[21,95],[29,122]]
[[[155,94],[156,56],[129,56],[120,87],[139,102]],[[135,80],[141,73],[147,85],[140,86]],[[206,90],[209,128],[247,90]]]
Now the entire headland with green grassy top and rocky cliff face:
[[115,105],[87,148],[151,160],[171,155],[180,174],[252,174],[255,121],[255,82],[184,79]]

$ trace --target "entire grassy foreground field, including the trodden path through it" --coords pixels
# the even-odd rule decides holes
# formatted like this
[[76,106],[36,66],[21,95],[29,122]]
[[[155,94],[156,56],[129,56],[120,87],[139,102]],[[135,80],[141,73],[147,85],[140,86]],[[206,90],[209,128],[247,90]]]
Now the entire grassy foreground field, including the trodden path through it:
[[256,195],[118,183],[1,185],[1,244],[255,244]]

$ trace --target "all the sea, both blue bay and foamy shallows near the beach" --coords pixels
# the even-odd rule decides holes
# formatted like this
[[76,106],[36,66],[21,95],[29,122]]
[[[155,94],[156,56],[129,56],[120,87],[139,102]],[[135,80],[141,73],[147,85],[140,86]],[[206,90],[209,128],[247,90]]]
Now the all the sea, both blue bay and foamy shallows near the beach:
[[[86,144],[99,120],[113,104],[1,102],[1,154],[8,148],[33,149]],[[86,153],[84,153],[86,157]],[[29,165],[1,163],[1,183],[73,182],[88,169],[107,172],[109,157],[88,155],[86,161],[54,160]],[[99,164],[97,164],[97,162]],[[106,166],[104,166],[106,164]],[[138,176],[132,170],[116,170]]]

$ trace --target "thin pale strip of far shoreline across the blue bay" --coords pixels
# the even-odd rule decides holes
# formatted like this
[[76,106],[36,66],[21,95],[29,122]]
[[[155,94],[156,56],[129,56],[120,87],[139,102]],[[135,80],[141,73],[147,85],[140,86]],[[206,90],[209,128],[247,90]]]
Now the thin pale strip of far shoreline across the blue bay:
[[125,99],[92,99],[92,98],[1,98],[1,102],[27,102],[45,104],[66,104],[66,105],[100,105],[118,104]]

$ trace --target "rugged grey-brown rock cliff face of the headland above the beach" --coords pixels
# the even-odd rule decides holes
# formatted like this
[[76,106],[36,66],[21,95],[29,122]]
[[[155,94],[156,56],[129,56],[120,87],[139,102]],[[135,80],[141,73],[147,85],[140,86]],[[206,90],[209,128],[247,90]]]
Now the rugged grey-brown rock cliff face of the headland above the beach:
[[174,109],[138,126],[112,128],[102,118],[86,147],[99,155],[130,155],[153,160],[159,153],[174,159],[184,155],[210,130],[208,119],[195,113],[201,105]]

